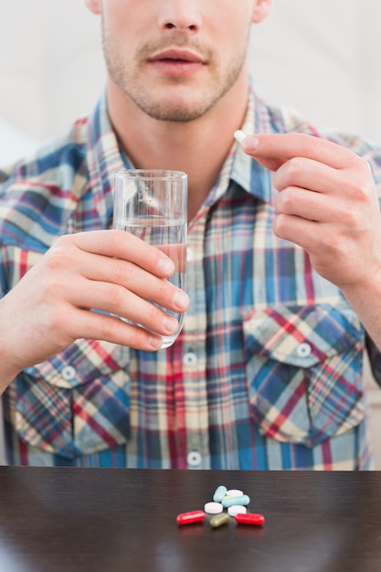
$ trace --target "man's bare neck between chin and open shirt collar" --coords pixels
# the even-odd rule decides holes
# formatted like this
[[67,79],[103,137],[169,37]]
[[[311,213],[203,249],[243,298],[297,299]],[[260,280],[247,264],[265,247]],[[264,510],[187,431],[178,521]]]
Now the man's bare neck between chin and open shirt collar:
[[173,169],[188,175],[188,219],[215,185],[248,104],[248,80],[236,84],[205,115],[191,122],[157,121],[141,111],[109,80],[111,122],[136,168]]

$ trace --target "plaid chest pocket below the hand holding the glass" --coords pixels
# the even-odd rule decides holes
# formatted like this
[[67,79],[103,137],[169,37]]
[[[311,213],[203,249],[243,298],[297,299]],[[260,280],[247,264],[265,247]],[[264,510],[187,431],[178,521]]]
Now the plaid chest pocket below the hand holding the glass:
[[73,459],[129,437],[129,348],[79,340],[16,378],[16,431],[26,443]]

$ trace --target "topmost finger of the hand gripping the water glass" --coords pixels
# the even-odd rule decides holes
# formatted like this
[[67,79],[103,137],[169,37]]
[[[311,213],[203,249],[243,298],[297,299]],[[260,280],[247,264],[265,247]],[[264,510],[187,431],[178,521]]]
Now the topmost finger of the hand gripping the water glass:
[[58,238],[54,249],[68,248],[68,242],[93,254],[130,260],[157,276],[170,276],[175,265],[164,252],[123,230],[90,230]]

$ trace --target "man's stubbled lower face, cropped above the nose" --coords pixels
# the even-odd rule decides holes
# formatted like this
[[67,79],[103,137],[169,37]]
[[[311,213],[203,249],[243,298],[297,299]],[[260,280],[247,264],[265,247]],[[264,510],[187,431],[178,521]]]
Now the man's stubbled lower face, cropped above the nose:
[[144,113],[187,122],[245,73],[256,0],[103,0],[111,81]]

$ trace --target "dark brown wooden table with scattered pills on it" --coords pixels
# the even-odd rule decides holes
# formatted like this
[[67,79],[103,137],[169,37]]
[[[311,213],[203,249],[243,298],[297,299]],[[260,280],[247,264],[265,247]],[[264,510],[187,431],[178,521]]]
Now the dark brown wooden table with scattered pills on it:
[[[217,485],[263,528],[179,527]],[[379,472],[0,468],[1,572],[380,572]]]

